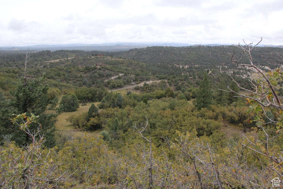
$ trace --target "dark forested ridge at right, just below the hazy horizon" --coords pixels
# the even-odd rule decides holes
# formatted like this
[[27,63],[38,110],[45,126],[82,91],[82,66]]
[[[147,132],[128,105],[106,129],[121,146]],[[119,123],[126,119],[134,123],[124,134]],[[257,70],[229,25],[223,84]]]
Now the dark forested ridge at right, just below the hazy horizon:
[[[121,53],[120,56],[131,58],[145,63],[180,64],[184,66],[206,66],[214,69],[218,66],[227,66],[229,69],[235,65],[229,60],[233,53],[233,46],[189,46],[189,47],[148,47],[132,49]],[[236,53],[241,53],[235,49]],[[260,66],[269,66],[275,69],[282,65],[282,48],[257,47],[253,50],[254,62]],[[119,52],[116,53],[117,55]]]

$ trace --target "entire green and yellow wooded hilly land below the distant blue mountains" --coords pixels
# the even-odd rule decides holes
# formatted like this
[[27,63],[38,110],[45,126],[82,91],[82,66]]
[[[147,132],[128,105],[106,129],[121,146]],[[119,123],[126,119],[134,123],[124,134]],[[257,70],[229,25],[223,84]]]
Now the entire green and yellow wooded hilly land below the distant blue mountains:
[[1,51],[0,188],[272,188],[282,57],[250,45]]

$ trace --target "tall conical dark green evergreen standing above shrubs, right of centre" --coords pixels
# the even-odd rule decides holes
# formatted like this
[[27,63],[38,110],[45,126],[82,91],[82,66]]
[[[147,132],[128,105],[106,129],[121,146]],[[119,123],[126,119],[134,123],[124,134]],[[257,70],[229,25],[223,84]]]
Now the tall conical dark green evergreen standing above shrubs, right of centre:
[[200,87],[197,92],[197,96],[194,100],[195,107],[200,110],[203,107],[209,108],[209,105],[212,104],[212,89],[208,74],[205,72],[203,79],[200,82]]

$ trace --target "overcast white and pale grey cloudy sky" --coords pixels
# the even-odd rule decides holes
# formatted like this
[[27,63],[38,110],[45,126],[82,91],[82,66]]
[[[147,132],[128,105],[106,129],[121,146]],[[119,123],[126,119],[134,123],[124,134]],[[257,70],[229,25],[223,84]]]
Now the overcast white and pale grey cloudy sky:
[[282,0],[4,0],[0,46],[283,45]]

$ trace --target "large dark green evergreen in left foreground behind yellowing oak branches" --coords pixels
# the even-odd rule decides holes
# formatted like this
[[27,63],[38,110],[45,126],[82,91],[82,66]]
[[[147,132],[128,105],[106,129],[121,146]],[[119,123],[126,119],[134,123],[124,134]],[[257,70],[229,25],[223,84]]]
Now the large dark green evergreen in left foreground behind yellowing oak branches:
[[[20,79],[17,88],[12,92],[15,97],[13,106],[16,108],[17,114],[26,113],[30,116],[31,113],[39,115],[37,119],[38,123],[41,123],[42,133],[46,138],[45,145],[52,147],[55,144],[54,132],[55,132],[55,114],[47,114],[48,109],[48,87],[45,84],[44,77],[35,78],[24,76]],[[54,102],[57,103],[57,102]],[[31,124],[31,131],[37,129],[37,124]],[[13,134],[13,133],[12,133]],[[17,144],[24,145],[30,142],[29,137],[17,136]],[[25,140],[23,140],[25,138]]]

